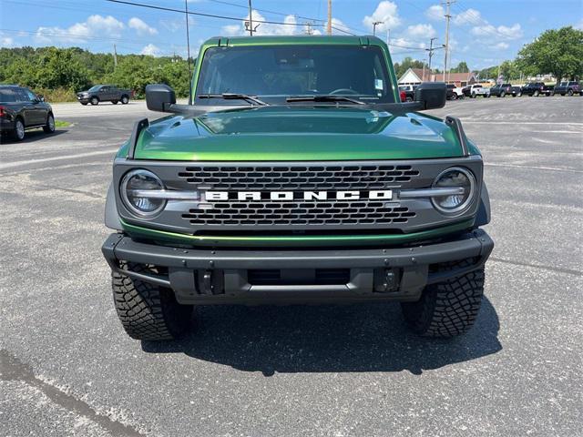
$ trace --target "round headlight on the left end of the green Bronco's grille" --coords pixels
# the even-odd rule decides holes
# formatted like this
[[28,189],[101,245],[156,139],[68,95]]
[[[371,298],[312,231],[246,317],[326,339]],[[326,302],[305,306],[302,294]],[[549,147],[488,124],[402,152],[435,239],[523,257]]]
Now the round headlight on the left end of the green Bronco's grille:
[[[166,206],[166,200],[148,197],[148,191],[164,189],[162,181],[154,173],[144,169],[131,170],[119,186],[119,192],[126,208],[138,216],[152,217]],[[152,193],[153,194],[153,193]]]

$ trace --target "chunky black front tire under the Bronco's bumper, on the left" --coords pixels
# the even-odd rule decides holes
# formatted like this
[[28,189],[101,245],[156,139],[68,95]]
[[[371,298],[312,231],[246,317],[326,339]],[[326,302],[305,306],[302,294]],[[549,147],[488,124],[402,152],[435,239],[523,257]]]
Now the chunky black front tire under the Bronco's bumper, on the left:
[[[146,266],[122,269],[152,273]],[[192,305],[180,305],[172,290],[112,272],[113,300],[124,330],[136,340],[173,340],[190,329]]]

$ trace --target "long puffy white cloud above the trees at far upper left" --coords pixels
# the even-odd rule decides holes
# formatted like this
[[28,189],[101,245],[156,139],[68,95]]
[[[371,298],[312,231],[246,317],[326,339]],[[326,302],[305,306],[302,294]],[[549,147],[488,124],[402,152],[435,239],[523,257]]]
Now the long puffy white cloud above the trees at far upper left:
[[35,39],[38,43],[78,43],[87,41],[91,36],[118,37],[123,29],[124,24],[111,15],[90,15],[87,21],[76,23],[66,29],[40,26],[36,30]]

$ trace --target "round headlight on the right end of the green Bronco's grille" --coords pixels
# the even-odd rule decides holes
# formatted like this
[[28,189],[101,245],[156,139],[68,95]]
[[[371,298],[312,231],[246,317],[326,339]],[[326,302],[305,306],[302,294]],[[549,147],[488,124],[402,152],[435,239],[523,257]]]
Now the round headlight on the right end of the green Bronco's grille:
[[444,214],[457,214],[465,210],[476,191],[476,178],[465,168],[447,168],[437,178],[434,188],[463,188],[459,193],[432,198],[435,208]]

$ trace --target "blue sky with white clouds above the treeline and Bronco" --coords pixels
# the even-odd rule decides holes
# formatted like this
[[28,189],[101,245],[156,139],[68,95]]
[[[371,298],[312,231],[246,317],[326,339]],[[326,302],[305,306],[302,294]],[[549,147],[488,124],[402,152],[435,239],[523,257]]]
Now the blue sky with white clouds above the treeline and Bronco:
[[[184,10],[185,0],[128,0]],[[210,36],[248,35],[248,0],[186,0],[192,56]],[[324,33],[327,0],[252,0],[258,35]],[[582,0],[456,0],[451,6],[451,65],[472,69],[513,59],[520,48],[549,28],[583,29]],[[376,35],[388,41],[393,60],[427,59],[430,39],[445,44],[445,8],[439,0],[332,0],[333,33]],[[0,46],[79,46],[93,52],[186,56],[183,14],[107,0],[0,0]],[[433,66],[443,68],[443,50]]]

